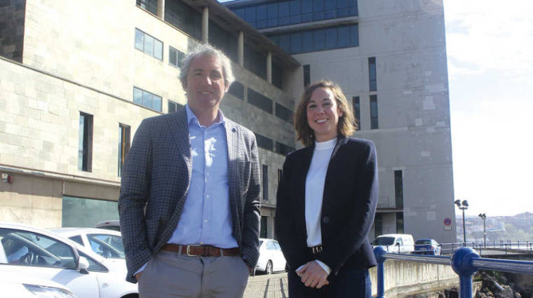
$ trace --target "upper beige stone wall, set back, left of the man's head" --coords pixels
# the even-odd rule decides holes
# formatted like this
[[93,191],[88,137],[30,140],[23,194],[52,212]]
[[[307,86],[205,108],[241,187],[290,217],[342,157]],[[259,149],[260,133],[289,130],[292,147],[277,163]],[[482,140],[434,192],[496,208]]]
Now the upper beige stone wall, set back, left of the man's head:
[[[168,46],[187,53],[195,41],[135,1],[26,2],[25,65],[121,98],[132,98],[136,86],[184,104]],[[135,29],[163,41],[162,61],[135,48]]]

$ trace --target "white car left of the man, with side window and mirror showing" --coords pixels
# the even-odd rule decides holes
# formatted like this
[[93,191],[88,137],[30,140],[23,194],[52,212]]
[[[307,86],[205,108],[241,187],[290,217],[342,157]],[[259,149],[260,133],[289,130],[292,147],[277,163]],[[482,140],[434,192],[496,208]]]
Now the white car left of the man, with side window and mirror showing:
[[105,258],[52,231],[0,223],[0,244],[0,269],[52,280],[78,298],[138,297],[137,285],[125,280],[125,269],[109,269],[102,264]]

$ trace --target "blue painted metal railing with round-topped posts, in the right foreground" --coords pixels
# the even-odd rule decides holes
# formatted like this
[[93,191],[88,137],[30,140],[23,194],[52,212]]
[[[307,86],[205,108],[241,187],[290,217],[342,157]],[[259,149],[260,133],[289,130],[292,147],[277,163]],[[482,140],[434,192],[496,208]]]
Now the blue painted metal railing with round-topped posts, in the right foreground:
[[452,257],[445,257],[390,253],[386,252],[384,248],[377,246],[374,248],[374,254],[377,259],[376,298],[385,297],[384,263],[386,259],[452,266],[455,273],[459,275],[460,298],[472,298],[472,276],[475,271],[480,269],[533,275],[533,262],[483,258],[472,248],[459,248],[455,250]]

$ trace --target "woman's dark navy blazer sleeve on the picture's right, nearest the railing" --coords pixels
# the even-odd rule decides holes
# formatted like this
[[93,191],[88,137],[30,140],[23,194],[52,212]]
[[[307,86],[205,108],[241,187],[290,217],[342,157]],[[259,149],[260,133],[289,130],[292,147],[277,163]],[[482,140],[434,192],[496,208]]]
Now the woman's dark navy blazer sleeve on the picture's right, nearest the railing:
[[[322,262],[330,266],[332,273],[337,274],[342,264],[346,262],[353,252],[356,252],[367,239],[368,233],[374,222],[378,201],[377,182],[377,154],[374,143],[366,141],[362,154],[359,154],[360,162],[355,169],[357,177],[354,189],[356,206],[355,213],[346,222],[344,229],[339,231],[337,237],[328,248],[324,248],[318,257]],[[356,153],[354,153],[356,155]]]

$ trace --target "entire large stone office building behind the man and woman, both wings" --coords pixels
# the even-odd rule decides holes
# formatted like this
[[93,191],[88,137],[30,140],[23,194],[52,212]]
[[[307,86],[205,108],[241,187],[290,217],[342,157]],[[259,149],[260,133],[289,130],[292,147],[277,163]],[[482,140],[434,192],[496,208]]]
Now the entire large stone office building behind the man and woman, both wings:
[[[442,1],[8,0],[0,4],[0,220],[118,218],[121,164],[143,118],[186,102],[199,43],[233,60],[224,115],[254,131],[262,236],[306,83],[341,84],[379,158],[375,234],[455,238]],[[359,118],[358,117],[358,118]]]

